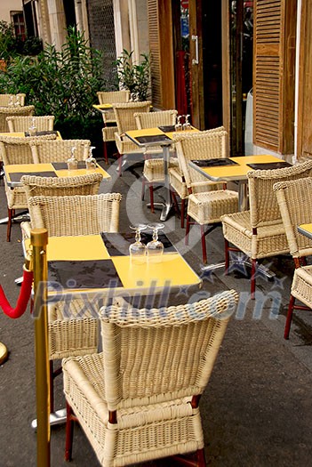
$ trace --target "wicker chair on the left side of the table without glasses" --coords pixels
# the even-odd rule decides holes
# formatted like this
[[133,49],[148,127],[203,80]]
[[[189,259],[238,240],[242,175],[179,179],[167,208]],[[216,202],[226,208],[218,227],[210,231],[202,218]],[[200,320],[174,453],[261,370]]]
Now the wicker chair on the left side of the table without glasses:
[[[220,223],[220,217],[226,213],[235,213],[238,210],[238,194],[229,189],[220,189],[220,184],[208,181],[204,175],[192,169],[188,163],[194,158],[226,157],[228,133],[201,132],[193,134],[177,134],[176,151],[180,169],[188,187],[188,214],[186,229],[186,244],[190,228],[190,219],[201,228],[201,241],[203,261],[207,262],[205,236]],[[212,229],[205,229],[211,225]]]

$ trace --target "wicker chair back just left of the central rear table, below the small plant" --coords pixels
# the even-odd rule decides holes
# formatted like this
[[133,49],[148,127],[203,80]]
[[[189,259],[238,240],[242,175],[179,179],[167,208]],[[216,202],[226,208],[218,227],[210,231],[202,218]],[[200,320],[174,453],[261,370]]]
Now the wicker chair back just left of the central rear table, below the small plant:
[[134,118],[136,112],[149,112],[151,101],[128,102],[124,104],[114,104],[113,109],[120,135],[127,131],[137,130],[137,124]]

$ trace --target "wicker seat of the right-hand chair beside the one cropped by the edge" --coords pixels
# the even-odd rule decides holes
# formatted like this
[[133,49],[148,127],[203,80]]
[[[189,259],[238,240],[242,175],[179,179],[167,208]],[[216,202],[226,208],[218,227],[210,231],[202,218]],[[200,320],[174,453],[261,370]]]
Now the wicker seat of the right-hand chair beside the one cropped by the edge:
[[289,246],[281,220],[258,227],[252,235],[250,211],[227,214],[221,217],[223,236],[250,258],[266,258],[276,254],[288,254]]

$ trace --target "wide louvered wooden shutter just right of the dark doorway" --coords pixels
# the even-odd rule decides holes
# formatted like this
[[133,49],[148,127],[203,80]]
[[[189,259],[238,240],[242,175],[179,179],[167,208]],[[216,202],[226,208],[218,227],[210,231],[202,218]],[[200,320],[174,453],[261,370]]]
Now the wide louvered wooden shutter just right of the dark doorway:
[[253,25],[253,142],[291,154],[296,0],[257,0]]

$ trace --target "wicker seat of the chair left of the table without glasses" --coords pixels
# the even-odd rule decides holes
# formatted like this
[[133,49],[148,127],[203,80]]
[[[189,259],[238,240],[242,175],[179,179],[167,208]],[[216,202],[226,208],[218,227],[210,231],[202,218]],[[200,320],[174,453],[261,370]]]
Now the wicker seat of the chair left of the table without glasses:
[[230,189],[218,189],[188,196],[188,215],[201,225],[220,222],[224,213],[238,209],[238,195]]

